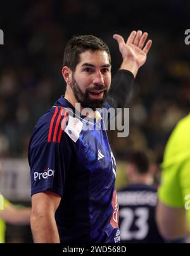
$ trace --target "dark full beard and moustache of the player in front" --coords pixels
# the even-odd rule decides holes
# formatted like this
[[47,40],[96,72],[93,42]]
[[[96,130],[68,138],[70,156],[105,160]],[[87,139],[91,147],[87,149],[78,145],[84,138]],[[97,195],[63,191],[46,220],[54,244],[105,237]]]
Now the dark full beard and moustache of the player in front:
[[103,98],[101,98],[101,100],[91,100],[91,98],[89,97],[89,91],[94,90],[94,88],[89,88],[85,90],[85,93],[83,93],[80,90],[76,80],[73,78],[72,90],[73,90],[73,95],[75,96],[77,102],[80,102],[82,107],[89,107],[93,111],[95,111],[96,108],[101,108],[103,106],[108,94],[108,90],[105,85],[97,85],[95,86],[95,88],[96,90],[105,90]]

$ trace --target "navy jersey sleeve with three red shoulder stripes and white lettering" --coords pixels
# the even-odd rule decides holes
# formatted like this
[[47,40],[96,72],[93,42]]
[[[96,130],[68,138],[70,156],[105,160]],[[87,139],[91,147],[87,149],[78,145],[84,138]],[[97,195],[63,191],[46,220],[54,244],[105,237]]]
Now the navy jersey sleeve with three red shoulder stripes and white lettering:
[[52,191],[63,196],[75,148],[63,130],[65,109],[55,107],[39,119],[28,149],[31,194]]

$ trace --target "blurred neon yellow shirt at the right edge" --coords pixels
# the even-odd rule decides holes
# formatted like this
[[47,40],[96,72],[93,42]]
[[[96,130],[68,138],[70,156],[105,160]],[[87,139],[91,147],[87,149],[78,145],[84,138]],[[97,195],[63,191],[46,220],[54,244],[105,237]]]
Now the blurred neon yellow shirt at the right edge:
[[186,208],[190,223],[190,114],[177,123],[167,142],[158,198],[167,206]]

